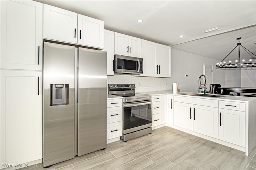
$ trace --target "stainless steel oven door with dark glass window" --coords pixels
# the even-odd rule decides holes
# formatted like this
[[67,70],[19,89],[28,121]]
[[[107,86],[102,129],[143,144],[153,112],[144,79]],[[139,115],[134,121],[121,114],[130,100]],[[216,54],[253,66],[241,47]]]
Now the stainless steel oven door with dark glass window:
[[151,101],[123,104],[124,134],[146,129],[151,126]]

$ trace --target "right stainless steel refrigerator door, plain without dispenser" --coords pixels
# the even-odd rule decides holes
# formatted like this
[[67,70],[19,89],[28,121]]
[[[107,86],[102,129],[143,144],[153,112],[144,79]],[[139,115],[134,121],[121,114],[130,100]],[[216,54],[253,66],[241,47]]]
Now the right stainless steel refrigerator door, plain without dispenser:
[[106,52],[79,48],[78,156],[106,148]]

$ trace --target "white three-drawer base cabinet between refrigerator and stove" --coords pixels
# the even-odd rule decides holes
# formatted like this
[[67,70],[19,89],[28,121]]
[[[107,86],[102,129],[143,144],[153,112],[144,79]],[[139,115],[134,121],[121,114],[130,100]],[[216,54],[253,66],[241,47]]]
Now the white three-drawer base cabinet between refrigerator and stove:
[[122,99],[107,100],[107,143],[118,141],[123,135]]

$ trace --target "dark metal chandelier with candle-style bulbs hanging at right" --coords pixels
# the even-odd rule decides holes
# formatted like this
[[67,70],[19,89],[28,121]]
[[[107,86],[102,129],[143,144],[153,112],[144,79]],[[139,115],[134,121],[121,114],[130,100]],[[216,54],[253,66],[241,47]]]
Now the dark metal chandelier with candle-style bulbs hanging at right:
[[[216,64],[217,68],[247,68],[247,67],[254,67],[256,68],[256,55],[253,54],[252,52],[250,52],[248,49],[246,49],[244,46],[242,46],[242,44],[240,43],[240,38],[237,38],[238,43],[236,45],[236,47],[238,47],[238,60],[235,61],[235,63],[232,63],[231,61],[228,61],[228,63],[226,63],[226,61],[224,61],[228,55],[230,55],[230,53],[232,53],[232,51],[234,51],[234,49],[236,49],[236,47],[230,52],[228,53],[228,55],[220,62]],[[242,60],[242,63],[240,62],[240,46],[244,49],[247,50],[248,52],[252,53],[252,58],[249,59],[248,61],[245,61],[244,59]],[[254,60],[254,61],[253,61]]]

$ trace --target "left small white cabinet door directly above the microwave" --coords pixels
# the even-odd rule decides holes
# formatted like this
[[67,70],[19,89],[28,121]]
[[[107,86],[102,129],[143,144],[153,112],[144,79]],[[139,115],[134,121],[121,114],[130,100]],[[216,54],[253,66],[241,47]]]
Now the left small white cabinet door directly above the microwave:
[[129,36],[115,33],[115,54],[129,55]]

